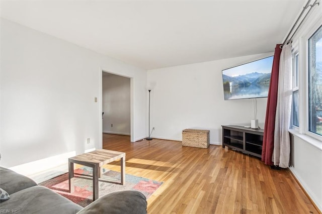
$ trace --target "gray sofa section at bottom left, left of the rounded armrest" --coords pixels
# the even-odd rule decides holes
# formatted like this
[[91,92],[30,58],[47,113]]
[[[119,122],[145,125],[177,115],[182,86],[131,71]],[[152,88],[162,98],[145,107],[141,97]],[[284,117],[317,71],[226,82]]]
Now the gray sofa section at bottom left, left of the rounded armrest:
[[44,186],[33,186],[11,194],[1,209],[16,213],[76,213],[83,207]]

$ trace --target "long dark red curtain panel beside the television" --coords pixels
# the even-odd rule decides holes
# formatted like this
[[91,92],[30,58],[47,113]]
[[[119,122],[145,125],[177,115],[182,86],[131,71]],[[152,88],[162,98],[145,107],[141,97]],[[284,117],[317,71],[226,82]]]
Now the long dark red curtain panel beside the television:
[[266,117],[264,126],[262,161],[267,165],[273,165],[272,155],[274,149],[274,130],[275,130],[275,115],[277,104],[277,88],[278,88],[278,73],[280,66],[280,56],[282,45],[277,44],[274,52],[270,87],[267,97]]

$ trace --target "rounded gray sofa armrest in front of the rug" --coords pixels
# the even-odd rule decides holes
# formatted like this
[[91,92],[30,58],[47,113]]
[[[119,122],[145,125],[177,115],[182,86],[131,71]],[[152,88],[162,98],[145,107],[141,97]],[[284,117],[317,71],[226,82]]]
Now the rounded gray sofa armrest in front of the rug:
[[126,190],[104,195],[77,212],[77,214],[146,214],[146,206],[146,198],[141,192]]

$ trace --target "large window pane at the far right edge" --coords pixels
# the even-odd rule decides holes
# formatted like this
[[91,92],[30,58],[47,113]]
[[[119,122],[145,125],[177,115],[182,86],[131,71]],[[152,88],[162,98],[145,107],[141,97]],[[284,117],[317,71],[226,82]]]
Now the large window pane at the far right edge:
[[322,135],[322,26],[308,40],[308,131]]

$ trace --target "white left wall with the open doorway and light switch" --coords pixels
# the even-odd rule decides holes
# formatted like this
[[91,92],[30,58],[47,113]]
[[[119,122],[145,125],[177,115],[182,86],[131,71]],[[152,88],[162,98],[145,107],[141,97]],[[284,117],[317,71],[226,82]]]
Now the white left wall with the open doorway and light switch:
[[1,57],[1,165],[102,147],[102,70],[131,77],[131,139],[145,137],[145,70],[5,19]]

